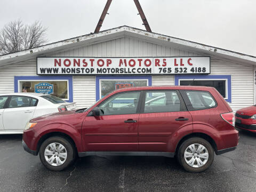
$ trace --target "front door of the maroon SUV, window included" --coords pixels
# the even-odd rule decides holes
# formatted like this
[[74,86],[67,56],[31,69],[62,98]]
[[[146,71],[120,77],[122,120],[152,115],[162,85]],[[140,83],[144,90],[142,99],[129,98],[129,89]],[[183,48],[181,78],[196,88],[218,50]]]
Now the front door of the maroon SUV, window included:
[[98,105],[100,116],[84,119],[85,151],[138,151],[140,91],[117,93]]

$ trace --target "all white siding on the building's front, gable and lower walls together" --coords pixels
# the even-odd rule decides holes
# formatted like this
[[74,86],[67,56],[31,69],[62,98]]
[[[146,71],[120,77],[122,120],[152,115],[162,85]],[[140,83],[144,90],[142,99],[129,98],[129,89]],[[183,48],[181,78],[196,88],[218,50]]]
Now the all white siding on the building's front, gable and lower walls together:
[[[53,52],[47,56],[68,57],[171,57],[204,55],[174,47],[166,47],[138,38],[122,37],[76,49]],[[231,108],[253,105],[253,67],[242,63],[211,59],[211,75],[231,75]],[[0,68],[0,94],[14,91],[14,76],[36,76],[36,58]],[[174,85],[174,75],[152,76],[153,85]],[[78,107],[95,102],[95,76],[73,77],[73,98]]]

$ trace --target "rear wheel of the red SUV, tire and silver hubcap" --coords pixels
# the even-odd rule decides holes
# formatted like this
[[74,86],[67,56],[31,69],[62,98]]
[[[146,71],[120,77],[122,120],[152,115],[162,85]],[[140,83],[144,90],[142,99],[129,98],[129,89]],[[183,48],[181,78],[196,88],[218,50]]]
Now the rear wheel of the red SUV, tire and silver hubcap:
[[214,159],[214,150],[205,139],[194,137],[181,144],[177,159],[186,171],[198,173],[211,166]]

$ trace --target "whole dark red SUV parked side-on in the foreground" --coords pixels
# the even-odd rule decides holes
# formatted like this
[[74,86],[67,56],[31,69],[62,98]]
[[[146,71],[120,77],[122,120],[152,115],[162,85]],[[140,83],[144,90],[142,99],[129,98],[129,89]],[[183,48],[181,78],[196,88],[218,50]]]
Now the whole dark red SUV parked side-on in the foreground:
[[93,106],[45,115],[27,124],[23,148],[60,171],[90,155],[176,156],[190,172],[234,150],[234,113],[213,87],[133,87]]

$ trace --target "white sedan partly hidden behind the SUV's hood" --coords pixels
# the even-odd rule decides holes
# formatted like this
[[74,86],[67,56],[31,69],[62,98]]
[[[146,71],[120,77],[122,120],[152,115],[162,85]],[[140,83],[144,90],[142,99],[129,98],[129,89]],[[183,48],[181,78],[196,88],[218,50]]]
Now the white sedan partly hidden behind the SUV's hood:
[[22,134],[31,118],[76,109],[76,103],[41,93],[0,95],[0,134]]

